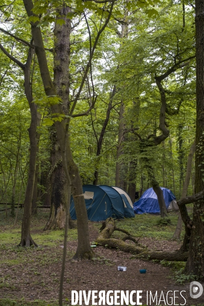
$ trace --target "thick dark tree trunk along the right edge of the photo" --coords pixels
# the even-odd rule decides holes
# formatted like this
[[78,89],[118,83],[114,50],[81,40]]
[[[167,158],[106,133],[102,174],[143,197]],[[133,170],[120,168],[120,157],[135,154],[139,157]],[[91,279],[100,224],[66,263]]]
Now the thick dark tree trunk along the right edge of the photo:
[[[204,189],[204,2],[195,0],[196,29],[196,153],[195,193]],[[193,206],[193,227],[185,271],[204,279],[204,198]]]

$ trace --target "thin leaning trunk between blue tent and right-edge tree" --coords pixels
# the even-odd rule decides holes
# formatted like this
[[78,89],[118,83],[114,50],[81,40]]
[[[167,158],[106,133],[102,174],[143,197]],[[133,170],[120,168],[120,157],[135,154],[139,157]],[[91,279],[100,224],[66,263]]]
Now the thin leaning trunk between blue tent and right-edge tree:
[[[183,185],[181,198],[185,198],[187,196],[188,186],[189,186],[190,178],[191,178],[191,169],[192,169],[192,161],[193,161],[194,153],[195,153],[195,142],[192,144],[189,155],[188,155],[188,161],[187,161],[187,167],[186,167],[186,177],[185,177],[185,181]],[[182,232],[182,224],[183,224],[182,216],[181,216],[181,213],[179,212],[179,218],[178,218],[176,229],[175,229],[175,232],[172,238],[180,239],[181,232]]]

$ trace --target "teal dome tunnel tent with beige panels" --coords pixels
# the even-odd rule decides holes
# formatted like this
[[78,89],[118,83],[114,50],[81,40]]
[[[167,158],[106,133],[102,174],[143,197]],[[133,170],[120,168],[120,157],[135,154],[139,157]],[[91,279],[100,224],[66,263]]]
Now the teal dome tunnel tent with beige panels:
[[[84,185],[84,198],[88,219],[103,221],[109,217],[122,219],[135,217],[130,196],[119,187]],[[70,199],[70,216],[76,220],[73,197]]]

